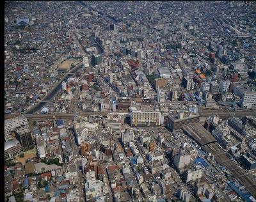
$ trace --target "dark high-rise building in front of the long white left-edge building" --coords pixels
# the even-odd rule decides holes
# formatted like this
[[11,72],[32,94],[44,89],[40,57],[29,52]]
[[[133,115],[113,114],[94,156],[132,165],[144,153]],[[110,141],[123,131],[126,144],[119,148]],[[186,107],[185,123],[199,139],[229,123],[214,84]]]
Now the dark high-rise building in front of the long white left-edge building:
[[16,139],[22,146],[23,152],[35,148],[35,139],[33,138],[28,126],[18,127],[14,132]]

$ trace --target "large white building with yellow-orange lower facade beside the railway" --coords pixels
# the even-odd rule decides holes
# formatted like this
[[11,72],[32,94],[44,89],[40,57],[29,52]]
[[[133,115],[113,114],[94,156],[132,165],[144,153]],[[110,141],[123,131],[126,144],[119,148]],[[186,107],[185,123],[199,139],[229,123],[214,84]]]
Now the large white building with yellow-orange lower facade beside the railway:
[[130,111],[132,126],[160,125],[161,112],[157,106],[132,104]]

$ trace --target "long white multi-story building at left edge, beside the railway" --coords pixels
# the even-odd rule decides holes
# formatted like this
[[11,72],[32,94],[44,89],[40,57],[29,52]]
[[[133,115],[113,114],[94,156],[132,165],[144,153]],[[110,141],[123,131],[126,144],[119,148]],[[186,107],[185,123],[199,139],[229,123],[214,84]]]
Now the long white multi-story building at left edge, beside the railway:
[[28,120],[24,116],[4,120],[4,136],[8,135],[10,132],[13,132],[14,128],[22,125],[28,125]]

